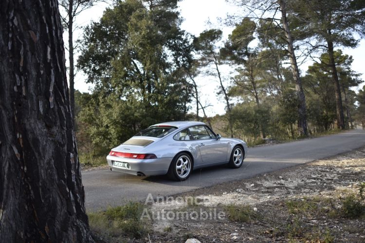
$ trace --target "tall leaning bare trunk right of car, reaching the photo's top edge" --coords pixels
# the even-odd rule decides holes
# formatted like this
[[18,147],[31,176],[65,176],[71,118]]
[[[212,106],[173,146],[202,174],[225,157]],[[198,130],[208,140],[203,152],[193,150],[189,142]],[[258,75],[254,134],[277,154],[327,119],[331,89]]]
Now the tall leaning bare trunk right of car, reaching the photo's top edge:
[[304,91],[303,91],[303,87],[302,87],[302,81],[301,81],[300,75],[299,75],[298,64],[296,62],[296,56],[295,56],[294,47],[293,47],[293,40],[292,40],[292,35],[291,35],[290,29],[289,29],[288,18],[287,18],[287,13],[286,13],[286,7],[285,7],[284,0],[279,0],[279,5],[280,5],[280,11],[281,11],[281,20],[283,22],[285,36],[286,36],[287,42],[288,42],[288,52],[289,52],[289,57],[290,57],[290,63],[291,63],[291,66],[292,66],[292,74],[293,74],[293,78],[294,78],[294,81],[295,81],[295,88],[296,88],[296,92],[297,92],[298,99],[299,99],[299,104],[298,104],[298,115],[299,115],[298,130],[299,130],[299,135],[308,136],[306,97],[304,95]]

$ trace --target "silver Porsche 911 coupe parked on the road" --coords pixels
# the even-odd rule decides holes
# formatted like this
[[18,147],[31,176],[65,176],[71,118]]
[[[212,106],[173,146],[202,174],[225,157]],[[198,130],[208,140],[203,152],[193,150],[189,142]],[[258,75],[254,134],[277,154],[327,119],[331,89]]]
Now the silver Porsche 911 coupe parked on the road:
[[202,167],[239,168],[246,155],[247,144],[240,139],[221,138],[203,122],[172,121],[139,132],[113,148],[107,160],[112,171],[185,180]]

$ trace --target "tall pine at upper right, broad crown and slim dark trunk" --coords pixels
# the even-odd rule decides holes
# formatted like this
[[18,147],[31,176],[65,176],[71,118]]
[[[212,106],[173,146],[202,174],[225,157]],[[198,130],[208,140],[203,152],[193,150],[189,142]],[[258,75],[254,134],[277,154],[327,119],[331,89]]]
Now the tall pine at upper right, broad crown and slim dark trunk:
[[[357,0],[303,0],[295,4],[293,11],[304,21],[310,22],[309,33],[313,43],[310,45],[311,52],[326,50],[328,53],[327,65],[335,87],[337,126],[341,129],[347,127],[344,121],[344,110],[341,96],[345,96],[347,121],[349,119],[349,107],[346,97],[346,90],[342,90],[335,57],[334,46],[354,48],[360,41],[357,36],[364,36],[365,5],[354,4]],[[305,4],[305,5],[304,5]],[[324,56],[321,56],[323,63]],[[344,86],[344,80],[342,86]],[[344,89],[344,87],[342,87]],[[345,114],[346,114],[345,113]],[[352,123],[352,122],[351,122]],[[352,124],[351,124],[352,126]]]

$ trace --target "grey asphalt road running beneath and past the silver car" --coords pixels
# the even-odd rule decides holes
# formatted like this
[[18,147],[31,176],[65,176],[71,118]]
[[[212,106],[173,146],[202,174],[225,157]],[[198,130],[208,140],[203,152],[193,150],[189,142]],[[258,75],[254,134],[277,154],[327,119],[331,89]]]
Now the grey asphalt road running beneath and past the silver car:
[[129,200],[145,201],[153,197],[212,186],[226,181],[253,177],[316,159],[334,156],[365,146],[365,131],[351,130],[336,135],[304,139],[290,143],[249,148],[239,169],[216,166],[194,171],[183,182],[166,176],[137,177],[107,169],[82,173],[88,211],[117,206]]

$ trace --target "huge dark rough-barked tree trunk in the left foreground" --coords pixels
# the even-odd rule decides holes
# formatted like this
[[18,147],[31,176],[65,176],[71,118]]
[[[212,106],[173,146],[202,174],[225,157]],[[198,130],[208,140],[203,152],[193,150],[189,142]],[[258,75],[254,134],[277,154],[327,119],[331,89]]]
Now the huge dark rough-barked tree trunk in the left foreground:
[[92,242],[57,0],[1,0],[0,54],[0,242]]

